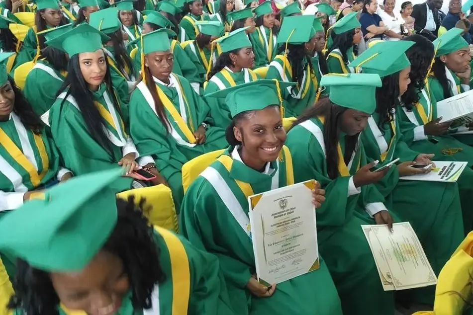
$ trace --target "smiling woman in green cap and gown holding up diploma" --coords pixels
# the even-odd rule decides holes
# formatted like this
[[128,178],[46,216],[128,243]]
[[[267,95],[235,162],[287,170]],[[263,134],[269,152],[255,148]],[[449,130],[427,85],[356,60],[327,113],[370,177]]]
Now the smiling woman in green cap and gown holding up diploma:
[[[277,287],[255,277],[248,197],[294,183],[278,97],[291,84],[260,79],[213,94],[226,96],[233,118],[226,130],[230,147],[197,177],[183,200],[181,232],[219,258],[238,315],[342,314],[321,257],[318,270]],[[324,192],[314,189],[312,194],[315,207],[321,207]]]

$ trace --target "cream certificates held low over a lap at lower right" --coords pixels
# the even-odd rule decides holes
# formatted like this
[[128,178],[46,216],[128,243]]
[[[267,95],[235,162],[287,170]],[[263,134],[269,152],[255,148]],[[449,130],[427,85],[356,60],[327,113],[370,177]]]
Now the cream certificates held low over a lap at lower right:
[[361,226],[370,244],[384,291],[435,285],[437,277],[409,222]]

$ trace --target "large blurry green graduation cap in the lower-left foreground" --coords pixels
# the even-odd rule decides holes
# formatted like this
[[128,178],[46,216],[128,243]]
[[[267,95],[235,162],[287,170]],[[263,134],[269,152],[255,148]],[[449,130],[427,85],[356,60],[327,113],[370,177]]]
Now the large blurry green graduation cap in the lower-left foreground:
[[122,173],[74,177],[46,190],[44,200],[25,202],[1,219],[0,248],[42,270],[83,269],[115,228],[116,192],[108,185]]

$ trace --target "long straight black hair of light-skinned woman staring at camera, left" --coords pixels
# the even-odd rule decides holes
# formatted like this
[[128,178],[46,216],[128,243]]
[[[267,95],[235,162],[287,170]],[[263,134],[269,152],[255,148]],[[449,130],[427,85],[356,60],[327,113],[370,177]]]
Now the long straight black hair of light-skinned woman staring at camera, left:
[[[118,100],[115,97],[115,93],[113,93],[113,86],[110,77],[110,67],[108,65],[106,55],[105,64],[107,67],[107,71],[105,73],[103,82],[107,87],[107,91],[110,93],[110,98],[113,102],[113,105],[115,106],[117,113],[121,115]],[[76,99],[77,105],[82,114],[82,117],[84,118],[84,123],[86,124],[90,136],[92,137],[92,139],[95,140],[95,142],[101,145],[105,149],[105,151],[112,155],[113,149],[110,140],[108,139],[107,135],[105,134],[105,131],[103,130],[104,120],[94,104],[94,99],[91,95],[89,87],[87,86],[86,80],[82,76],[81,67],[79,65],[79,54],[76,54],[70,58],[66,79],[64,79],[64,82],[59,88],[57,95],[59,96],[59,94],[64,91],[66,91],[66,96],[64,97],[63,102],[69,95]]]

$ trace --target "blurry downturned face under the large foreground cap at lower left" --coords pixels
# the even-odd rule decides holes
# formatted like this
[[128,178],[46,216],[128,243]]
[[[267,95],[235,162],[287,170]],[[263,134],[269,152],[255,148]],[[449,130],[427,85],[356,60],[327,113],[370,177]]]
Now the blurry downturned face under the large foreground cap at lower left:
[[114,315],[129,289],[123,262],[115,255],[100,251],[79,272],[51,273],[59,300],[71,310],[88,315]]

